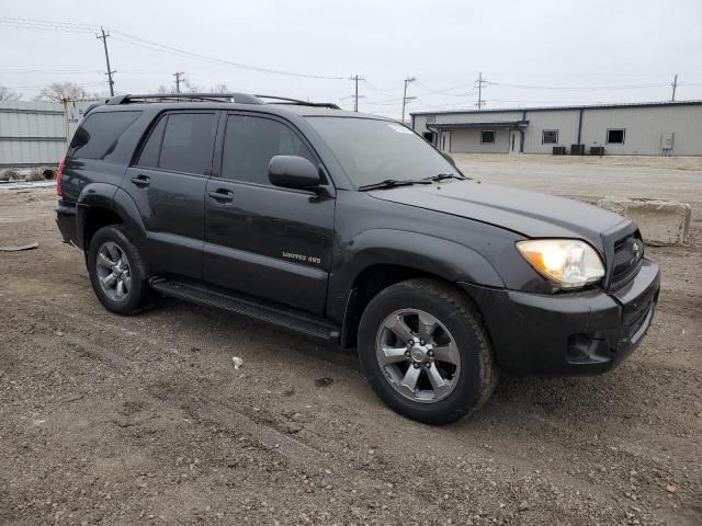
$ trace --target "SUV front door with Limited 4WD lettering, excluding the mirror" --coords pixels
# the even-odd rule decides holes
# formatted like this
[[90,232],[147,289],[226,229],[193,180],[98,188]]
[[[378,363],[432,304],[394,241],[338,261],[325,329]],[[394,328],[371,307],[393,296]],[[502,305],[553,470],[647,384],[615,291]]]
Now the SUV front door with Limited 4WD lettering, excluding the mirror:
[[271,185],[272,157],[314,164],[302,136],[272,116],[229,114],[220,125],[215,175],[205,191],[204,277],[286,306],[324,312],[333,241],[328,193]]

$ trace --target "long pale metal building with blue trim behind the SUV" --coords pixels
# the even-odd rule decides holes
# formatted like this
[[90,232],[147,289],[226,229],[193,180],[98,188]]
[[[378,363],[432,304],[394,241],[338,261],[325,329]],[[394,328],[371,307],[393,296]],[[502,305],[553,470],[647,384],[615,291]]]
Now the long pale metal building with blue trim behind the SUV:
[[455,153],[702,156],[702,101],[418,112],[411,126]]

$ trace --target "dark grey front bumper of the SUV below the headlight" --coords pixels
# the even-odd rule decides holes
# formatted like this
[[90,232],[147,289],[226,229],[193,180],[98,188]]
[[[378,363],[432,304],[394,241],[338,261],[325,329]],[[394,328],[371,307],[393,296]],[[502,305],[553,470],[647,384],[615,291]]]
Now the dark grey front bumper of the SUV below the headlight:
[[460,285],[483,312],[500,369],[591,375],[615,367],[641,343],[656,310],[660,272],[644,260],[616,290],[552,296]]

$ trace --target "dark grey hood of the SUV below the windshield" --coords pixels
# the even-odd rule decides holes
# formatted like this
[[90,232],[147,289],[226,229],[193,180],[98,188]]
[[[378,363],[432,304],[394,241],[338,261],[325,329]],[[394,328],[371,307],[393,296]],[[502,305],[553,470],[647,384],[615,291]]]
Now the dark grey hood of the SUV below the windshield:
[[580,238],[602,250],[602,233],[630,220],[578,201],[476,181],[373,191],[383,201],[506,228],[526,238]]

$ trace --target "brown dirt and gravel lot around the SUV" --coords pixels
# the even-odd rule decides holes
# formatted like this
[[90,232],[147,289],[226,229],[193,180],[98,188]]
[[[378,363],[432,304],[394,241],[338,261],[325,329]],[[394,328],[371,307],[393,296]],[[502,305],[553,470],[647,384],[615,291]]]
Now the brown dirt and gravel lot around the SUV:
[[[695,170],[460,162],[556,193],[582,168],[702,202]],[[652,170],[672,183],[652,187]],[[0,193],[0,245],[39,243],[0,253],[0,524],[702,524],[697,221],[689,247],[648,250],[659,311],[622,367],[503,376],[477,415],[430,427],[387,410],[352,358],[254,321],[171,300],[107,313],[53,205]]]

